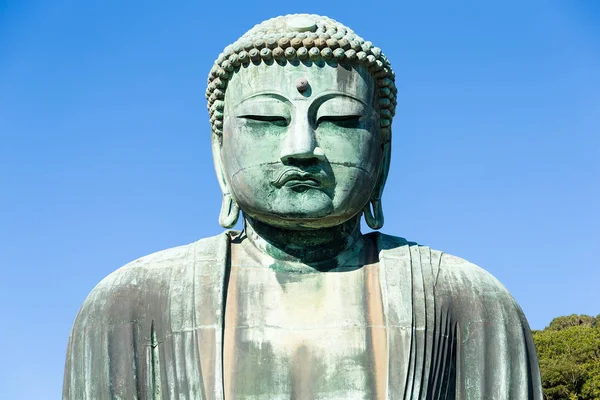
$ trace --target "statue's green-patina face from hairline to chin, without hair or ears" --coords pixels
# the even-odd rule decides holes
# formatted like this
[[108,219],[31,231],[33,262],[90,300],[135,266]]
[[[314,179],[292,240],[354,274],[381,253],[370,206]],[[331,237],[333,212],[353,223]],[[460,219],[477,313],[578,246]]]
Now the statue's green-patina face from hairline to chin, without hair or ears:
[[382,162],[374,88],[362,66],[262,63],[235,73],[219,155],[240,208],[294,229],[359,213]]

